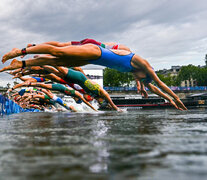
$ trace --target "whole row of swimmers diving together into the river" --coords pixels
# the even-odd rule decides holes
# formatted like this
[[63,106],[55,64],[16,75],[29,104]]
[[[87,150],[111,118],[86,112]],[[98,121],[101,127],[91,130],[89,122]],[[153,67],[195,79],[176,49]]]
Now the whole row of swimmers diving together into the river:
[[[22,61],[13,59],[18,56],[24,58],[27,54],[35,55]],[[2,62],[9,59],[13,59],[10,65],[3,67],[0,72],[8,71],[13,78],[23,81],[8,90],[9,94],[12,93],[11,98],[23,108],[57,109],[56,104],[59,104],[66,110],[76,112],[76,106],[57,97],[54,94],[56,91],[71,96],[77,104],[85,103],[94,111],[97,109],[91,104],[93,100],[100,106],[104,104],[107,108],[122,111],[113,103],[110,95],[98,83],[90,80],[79,67],[97,64],[133,73],[137,91],[141,95],[148,97],[145,90],[147,87],[176,109],[187,110],[179,97],[158,78],[149,62],[132,53],[125,45],[101,43],[94,39],[66,43],[51,41],[28,44],[23,49],[14,48],[3,56]]]

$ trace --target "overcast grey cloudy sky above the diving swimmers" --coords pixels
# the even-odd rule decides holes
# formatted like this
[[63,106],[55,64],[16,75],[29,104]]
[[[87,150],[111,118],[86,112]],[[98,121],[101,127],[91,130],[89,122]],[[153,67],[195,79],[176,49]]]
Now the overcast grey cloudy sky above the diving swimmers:
[[[0,57],[28,43],[94,38],[125,44],[155,70],[204,65],[206,19],[206,0],[1,0]],[[1,73],[0,86],[11,79]]]

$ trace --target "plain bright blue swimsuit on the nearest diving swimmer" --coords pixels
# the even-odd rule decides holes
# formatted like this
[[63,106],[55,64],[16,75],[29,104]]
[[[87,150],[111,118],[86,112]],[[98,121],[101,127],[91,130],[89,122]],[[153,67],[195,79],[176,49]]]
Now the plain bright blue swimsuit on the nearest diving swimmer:
[[118,55],[111,50],[104,49],[101,46],[98,47],[101,49],[101,56],[98,59],[89,60],[91,64],[106,66],[121,72],[132,72],[134,70],[131,65],[134,53]]

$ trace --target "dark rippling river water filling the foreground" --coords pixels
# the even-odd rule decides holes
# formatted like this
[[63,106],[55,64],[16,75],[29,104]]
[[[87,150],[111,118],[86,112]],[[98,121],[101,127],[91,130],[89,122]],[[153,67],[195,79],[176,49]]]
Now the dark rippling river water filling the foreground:
[[0,179],[207,178],[207,110],[0,117]]

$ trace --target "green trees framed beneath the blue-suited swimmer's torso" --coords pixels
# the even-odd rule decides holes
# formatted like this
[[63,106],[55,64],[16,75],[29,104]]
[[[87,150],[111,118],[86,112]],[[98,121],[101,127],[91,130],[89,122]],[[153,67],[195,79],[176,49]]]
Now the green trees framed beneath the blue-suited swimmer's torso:
[[126,86],[129,85],[133,80],[132,73],[123,73],[114,69],[105,68],[103,72],[104,86]]

